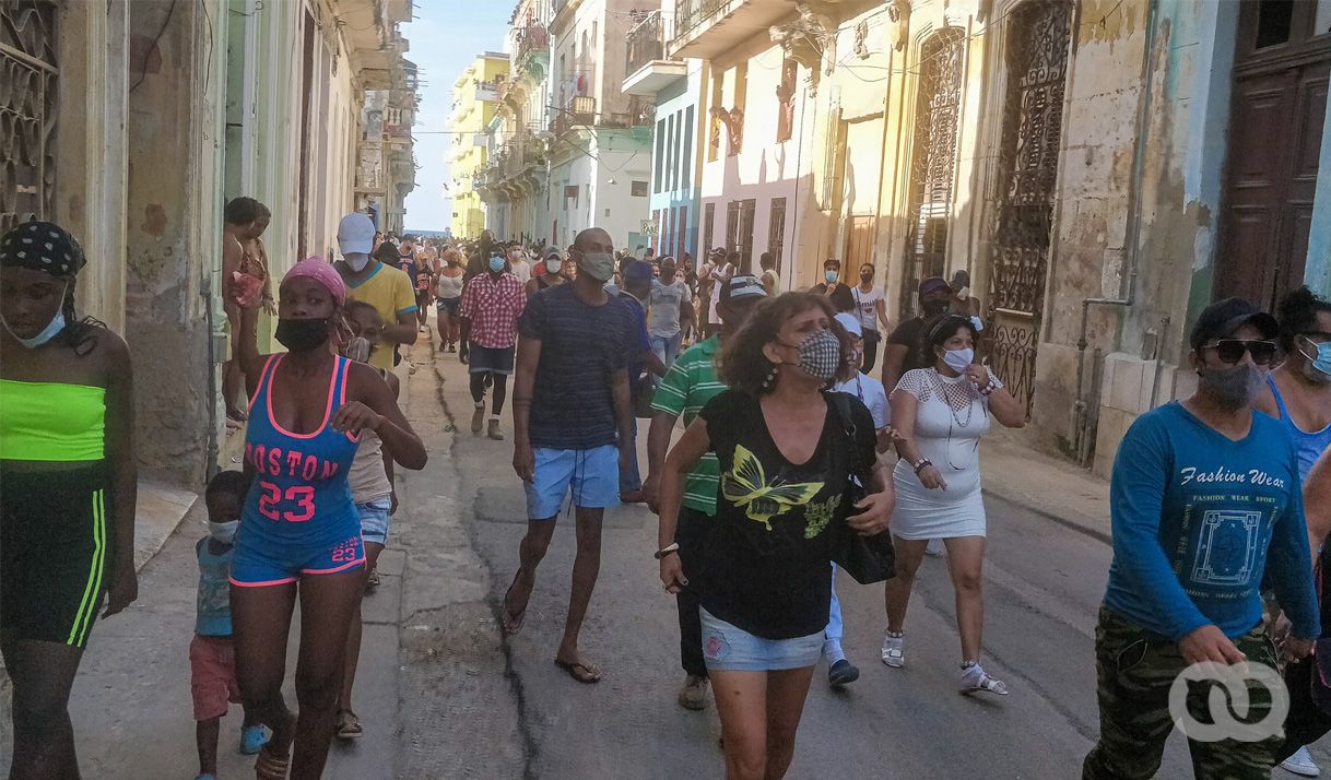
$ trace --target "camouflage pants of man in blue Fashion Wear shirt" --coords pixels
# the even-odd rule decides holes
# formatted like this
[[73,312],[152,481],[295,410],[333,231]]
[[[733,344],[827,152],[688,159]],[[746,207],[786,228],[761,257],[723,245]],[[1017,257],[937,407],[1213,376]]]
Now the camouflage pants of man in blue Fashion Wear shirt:
[[[1275,667],[1275,648],[1262,627],[1234,640],[1250,662]],[[1082,764],[1082,780],[1147,780],[1159,771],[1165,740],[1174,731],[1169,689],[1187,667],[1178,644],[1149,635],[1107,610],[1095,626],[1095,676],[1099,697],[1099,741]],[[1189,683],[1187,708],[1210,723],[1206,696],[1211,683]],[[1270,692],[1248,685],[1244,720],[1260,720],[1271,708]],[[1283,735],[1262,741],[1189,740],[1198,780],[1270,780]]]

